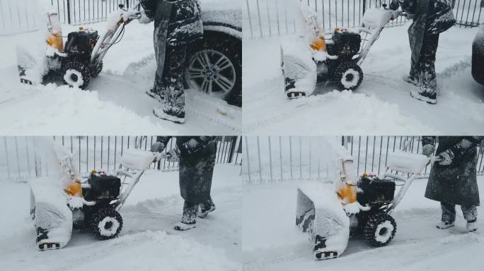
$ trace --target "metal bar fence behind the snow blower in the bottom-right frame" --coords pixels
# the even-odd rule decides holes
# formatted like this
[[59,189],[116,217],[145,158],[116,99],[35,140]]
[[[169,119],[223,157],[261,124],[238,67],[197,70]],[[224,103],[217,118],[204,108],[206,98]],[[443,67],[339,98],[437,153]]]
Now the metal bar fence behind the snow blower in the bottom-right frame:
[[[243,138],[243,174],[246,182],[287,180],[327,180],[333,176],[333,146],[342,145],[350,152],[363,173],[382,174],[388,154],[396,150],[420,153],[420,136],[245,136]],[[478,148],[478,174],[484,174],[484,142]],[[427,176],[425,168],[422,176]]]

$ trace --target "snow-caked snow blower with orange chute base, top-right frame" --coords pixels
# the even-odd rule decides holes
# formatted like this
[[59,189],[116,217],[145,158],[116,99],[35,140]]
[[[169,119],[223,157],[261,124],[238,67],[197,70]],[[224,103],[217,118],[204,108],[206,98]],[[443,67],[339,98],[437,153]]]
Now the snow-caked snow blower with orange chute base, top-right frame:
[[284,92],[290,99],[309,96],[317,83],[328,81],[340,90],[356,90],[363,80],[360,65],[371,46],[390,20],[405,16],[384,4],[383,8],[367,10],[359,28],[324,32],[315,11],[304,2],[300,9],[308,30],[306,37],[281,45]]

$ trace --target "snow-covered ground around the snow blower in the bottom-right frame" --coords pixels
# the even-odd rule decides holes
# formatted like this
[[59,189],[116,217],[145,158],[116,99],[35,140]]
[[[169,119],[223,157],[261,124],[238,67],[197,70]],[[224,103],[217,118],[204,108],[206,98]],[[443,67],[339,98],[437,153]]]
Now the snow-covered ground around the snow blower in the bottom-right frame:
[[[483,176],[478,177],[482,187]],[[427,179],[414,181],[393,212],[396,237],[381,248],[361,238],[350,239],[345,253],[333,260],[315,261],[308,236],[295,225],[295,181],[244,184],[243,270],[480,270],[484,251],[483,208],[480,229],[466,231],[457,207],[456,227],[439,230],[439,203],[424,197]],[[480,194],[481,202],[484,200]]]

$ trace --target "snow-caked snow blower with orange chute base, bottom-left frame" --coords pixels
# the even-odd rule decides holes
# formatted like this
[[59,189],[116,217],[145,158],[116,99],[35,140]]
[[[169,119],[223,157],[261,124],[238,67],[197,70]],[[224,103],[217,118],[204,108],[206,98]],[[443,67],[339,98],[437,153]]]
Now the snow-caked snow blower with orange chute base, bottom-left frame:
[[30,182],[30,215],[37,231],[40,251],[59,249],[71,239],[73,227],[88,229],[100,240],[113,239],[122,229],[120,208],[137,185],[155,155],[125,150],[113,174],[93,170],[88,176],[76,173],[72,155],[64,150],[59,159],[59,176]]

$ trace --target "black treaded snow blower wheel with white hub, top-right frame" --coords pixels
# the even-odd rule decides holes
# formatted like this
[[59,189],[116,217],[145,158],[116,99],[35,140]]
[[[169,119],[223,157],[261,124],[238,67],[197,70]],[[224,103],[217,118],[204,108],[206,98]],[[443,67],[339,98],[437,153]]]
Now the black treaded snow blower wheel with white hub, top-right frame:
[[340,90],[356,90],[363,81],[363,71],[353,61],[345,61],[335,71],[335,82]]

